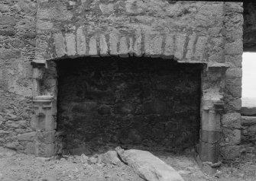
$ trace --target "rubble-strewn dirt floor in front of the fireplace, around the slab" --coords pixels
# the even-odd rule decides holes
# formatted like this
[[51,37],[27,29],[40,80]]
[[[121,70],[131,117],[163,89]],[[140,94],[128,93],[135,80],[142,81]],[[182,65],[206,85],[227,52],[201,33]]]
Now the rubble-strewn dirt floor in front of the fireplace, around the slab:
[[[232,167],[222,166],[215,176],[202,173],[191,154],[173,155],[157,153],[161,160],[177,170],[185,181],[254,181],[256,180],[256,160],[244,160]],[[57,160],[37,158],[32,155],[17,154],[15,151],[0,149],[0,180],[53,181],[53,180],[88,180],[143,181],[125,164],[85,164],[79,156],[62,157]]]

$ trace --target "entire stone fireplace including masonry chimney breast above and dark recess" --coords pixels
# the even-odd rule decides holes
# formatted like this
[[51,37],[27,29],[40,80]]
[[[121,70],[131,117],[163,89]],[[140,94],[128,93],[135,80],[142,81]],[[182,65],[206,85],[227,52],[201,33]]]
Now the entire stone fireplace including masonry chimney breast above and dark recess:
[[41,1],[36,155],[122,145],[196,147],[200,167],[236,157],[228,122],[241,108],[241,12],[230,2]]

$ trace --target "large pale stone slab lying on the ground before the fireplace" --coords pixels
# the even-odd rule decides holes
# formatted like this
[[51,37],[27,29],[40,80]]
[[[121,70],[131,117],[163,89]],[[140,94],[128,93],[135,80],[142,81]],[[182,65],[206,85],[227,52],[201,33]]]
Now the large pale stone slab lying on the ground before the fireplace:
[[148,151],[115,149],[122,160],[133,168],[141,178],[148,181],[183,181],[173,167],[155,157]]

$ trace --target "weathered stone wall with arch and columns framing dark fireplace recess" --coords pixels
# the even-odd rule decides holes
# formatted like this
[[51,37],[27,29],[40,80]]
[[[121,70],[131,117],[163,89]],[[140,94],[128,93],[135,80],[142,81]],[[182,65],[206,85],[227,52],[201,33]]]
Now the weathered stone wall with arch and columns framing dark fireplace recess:
[[199,160],[239,156],[242,3],[3,0],[0,6],[1,146],[45,157],[61,152],[62,138],[53,138],[53,60],[146,56],[204,65]]

